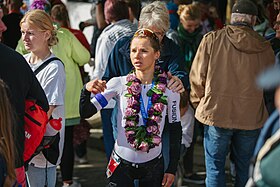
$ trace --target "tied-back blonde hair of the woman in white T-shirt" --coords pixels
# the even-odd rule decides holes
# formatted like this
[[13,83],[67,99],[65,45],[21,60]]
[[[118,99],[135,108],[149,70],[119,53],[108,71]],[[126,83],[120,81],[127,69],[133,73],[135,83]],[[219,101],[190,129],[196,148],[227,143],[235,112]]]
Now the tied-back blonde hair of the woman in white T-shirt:
[[28,11],[20,21],[20,26],[24,22],[37,27],[41,31],[50,31],[51,36],[48,40],[49,46],[53,46],[58,43],[56,29],[53,26],[52,19],[45,11],[39,9]]

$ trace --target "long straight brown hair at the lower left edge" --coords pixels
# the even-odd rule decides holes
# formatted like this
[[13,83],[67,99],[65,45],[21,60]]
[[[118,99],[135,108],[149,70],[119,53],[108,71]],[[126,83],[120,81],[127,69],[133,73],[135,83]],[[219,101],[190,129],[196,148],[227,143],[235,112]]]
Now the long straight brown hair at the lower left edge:
[[0,154],[3,156],[7,176],[4,186],[13,186],[16,181],[15,174],[15,145],[12,133],[14,113],[8,98],[7,86],[0,79]]

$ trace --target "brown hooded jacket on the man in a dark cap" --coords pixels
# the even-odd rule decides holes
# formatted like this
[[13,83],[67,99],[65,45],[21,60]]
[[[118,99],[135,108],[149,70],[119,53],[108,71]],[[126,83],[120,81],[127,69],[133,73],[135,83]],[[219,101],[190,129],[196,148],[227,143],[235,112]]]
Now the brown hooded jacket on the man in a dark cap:
[[274,63],[270,43],[247,26],[206,34],[190,72],[195,117],[206,125],[253,130],[267,118],[257,75]]

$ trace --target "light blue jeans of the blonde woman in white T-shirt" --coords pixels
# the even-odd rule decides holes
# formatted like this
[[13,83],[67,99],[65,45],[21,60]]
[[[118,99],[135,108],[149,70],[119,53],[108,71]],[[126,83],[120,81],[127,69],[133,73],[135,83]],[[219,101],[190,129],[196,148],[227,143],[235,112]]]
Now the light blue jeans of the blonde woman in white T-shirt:
[[[29,187],[44,187],[46,184],[46,168],[38,168],[32,165],[28,166],[26,172]],[[48,187],[55,187],[56,166],[47,169]]]

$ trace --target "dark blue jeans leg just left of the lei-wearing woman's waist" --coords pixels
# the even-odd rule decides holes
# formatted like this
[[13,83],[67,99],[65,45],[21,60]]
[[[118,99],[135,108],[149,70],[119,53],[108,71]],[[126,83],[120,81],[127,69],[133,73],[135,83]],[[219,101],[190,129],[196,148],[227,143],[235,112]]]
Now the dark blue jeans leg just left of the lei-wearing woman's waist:
[[103,141],[107,160],[110,159],[114,149],[115,139],[113,136],[113,126],[111,121],[113,109],[102,109],[100,111],[103,130]]

